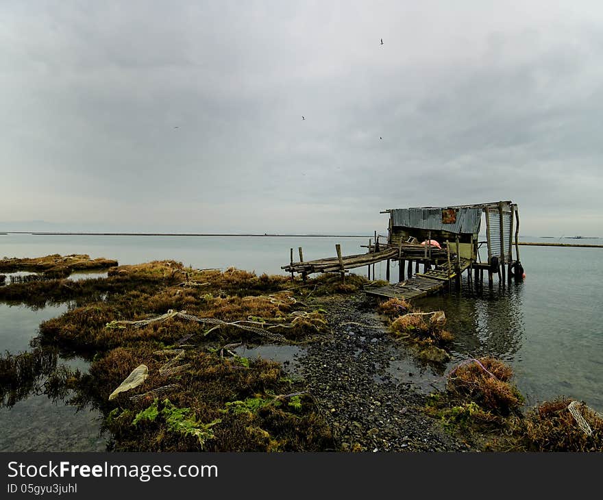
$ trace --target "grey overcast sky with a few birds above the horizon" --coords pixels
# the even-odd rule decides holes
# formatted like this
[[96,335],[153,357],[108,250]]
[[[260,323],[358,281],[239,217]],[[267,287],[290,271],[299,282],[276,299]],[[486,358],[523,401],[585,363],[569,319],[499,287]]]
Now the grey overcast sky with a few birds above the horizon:
[[4,223],[603,236],[600,1],[3,0],[0,96]]

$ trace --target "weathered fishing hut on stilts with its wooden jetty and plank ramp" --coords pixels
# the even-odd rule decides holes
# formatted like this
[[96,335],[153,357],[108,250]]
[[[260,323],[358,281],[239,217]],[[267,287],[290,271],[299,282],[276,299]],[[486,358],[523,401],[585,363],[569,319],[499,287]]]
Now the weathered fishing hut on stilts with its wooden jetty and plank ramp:
[[[450,287],[453,279],[460,286],[460,278],[467,271],[473,284],[481,285],[487,271],[489,285],[497,275],[501,284],[506,277],[521,279],[523,268],[519,262],[519,212],[511,201],[453,205],[446,207],[393,208],[389,214],[387,242],[380,241],[375,233],[374,243],[369,240],[368,252],[357,255],[341,255],[336,245],[336,257],[304,261],[299,248],[299,262],[282,266],[302,277],[311,273],[345,273],[349,269],[371,266],[386,261],[386,281],[389,285],[365,286],[365,292],[382,297],[413,299]],[[485,234],[482,233],[484,229]],[[513,255],[515,248],[515,255]],[[399,264],[399,280],[391,284],[390,264]],[[419,273],[419,266],[423,273]],[[473,274],[473,276],[472,276]]]

